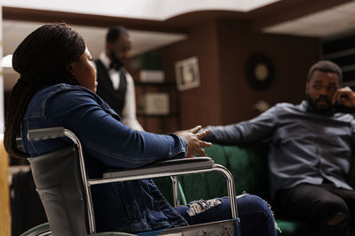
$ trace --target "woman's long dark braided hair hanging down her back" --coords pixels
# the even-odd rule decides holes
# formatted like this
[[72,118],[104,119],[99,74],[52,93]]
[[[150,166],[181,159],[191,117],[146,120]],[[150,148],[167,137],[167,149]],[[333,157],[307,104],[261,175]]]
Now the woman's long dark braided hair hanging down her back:
[[15,49],[12,67],[20,73],[20,79],[12,88],[4,124],[4,148],[10,155],[28,157],[17,148],[16,137],[32,96],[59,83],[78,85],[69,65],[84,51],[82,36],[65,23],[37,28]]

